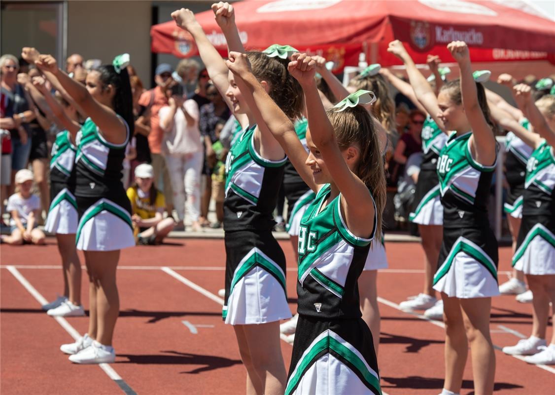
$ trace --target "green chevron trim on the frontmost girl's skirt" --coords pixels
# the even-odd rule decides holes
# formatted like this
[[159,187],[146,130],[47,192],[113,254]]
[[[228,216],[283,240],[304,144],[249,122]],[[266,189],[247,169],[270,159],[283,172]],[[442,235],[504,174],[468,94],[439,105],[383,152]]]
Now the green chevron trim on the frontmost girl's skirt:
[[285,395],[290,395],[292,393],[293,389],[299,384],[302,376],[304,376],[305,371],[317,361],[318,355],[325,350],[332,350],[336,353],[334,356],[340,359],[340,361],[349,362],[349,364],[360,373],[366,386],[369,387],[374,394],[381,395],[382,392],[379,379],[377,379],[374,374],[370,373],[366,368],[366,364],[361,361],[358,355],[336,339],[330,337],[330,335],[326,335],[326,337],[320,339],[314,345],[311,345],[309,353],[297,363],[295,367],[295,376],[289,379],[287,387],[285,388]]

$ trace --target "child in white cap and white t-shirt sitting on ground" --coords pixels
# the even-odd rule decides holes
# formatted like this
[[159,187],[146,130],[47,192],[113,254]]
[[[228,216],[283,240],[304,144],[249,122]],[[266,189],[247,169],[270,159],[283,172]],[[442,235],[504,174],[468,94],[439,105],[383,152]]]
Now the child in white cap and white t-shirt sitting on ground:
[[44,244],[44,233],[37,228],[37,217],[41,215],[41,200],[31,194],[33,187],[31,170],[21,169],[16,173],[16,193],[8,199],[6,208],[11,215],[11,234],[2,236],[2,242],[12,245]]

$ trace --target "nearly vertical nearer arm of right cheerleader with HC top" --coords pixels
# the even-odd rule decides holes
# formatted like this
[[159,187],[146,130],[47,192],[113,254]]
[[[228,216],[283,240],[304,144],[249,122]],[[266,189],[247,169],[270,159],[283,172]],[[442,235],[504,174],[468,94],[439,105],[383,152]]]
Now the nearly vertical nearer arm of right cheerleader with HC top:
[[470,52],[464,41],[453,41],[447,46],[451,55],[461,69],[461,93],[462,103],[465,108],[466,117],[472,128],[471,145],[476,154],[478,163],[491,166],[496,158],[496,141],[491,126],[478,102],[478,91],[476,81],[472,77],[472,65]]

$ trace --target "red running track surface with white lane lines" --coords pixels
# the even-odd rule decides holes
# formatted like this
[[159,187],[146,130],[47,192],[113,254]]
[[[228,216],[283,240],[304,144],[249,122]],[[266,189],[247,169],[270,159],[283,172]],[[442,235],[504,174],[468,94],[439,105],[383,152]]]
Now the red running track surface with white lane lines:
[[[59,345],[72,338],[56,320],[42,312],[37,299],[13,274],[20,273],[44,298],[53,299],[62,290],[59,255],[53,243],[49,239],[48,245],[42,247],[2,246],[2,395],[244,393],[245,371],[233,329],[222,322],[216,296],[224,286],[223,240],[171,240],[171,244],[138,246],[122,252],[118,270],[121,312],[114,338],[117,358],[110,365],[117,376],[109,376],[98,366],[70,363],[67,355],[59,351]],[[288,259],[287,289],[294,311],[294,257],[289,242],[280,244]],[[421,290],[422,249],[417,243],[388,243],[386,248],[390,268],[378,276],[378,294],[382,298],[382,390],[390,395],[436,395],[443,382],[444,329],[441,323],[432,324],[395,308]],[[507,273],[510,249],[501,248],[499,257],[499,270]],[[11,265],[14,268],[10,271],[7,266]],[[163,271],[163,266],[171,270]],[[175,276],[189,280],[193,287],[196,284],[196,290]],[[500,282],[505,279],[506,275],[499,274]],[[200,293],[198,287],[207,292]],[[83,334],[87,320],[74,317],[67,322]],[[493,299],[491,329],[497,346],[516,343],[516,334],[528,336],[531,323],[531,305],[517,303],[511,296]],[[548,338],[551,330],[550,325]],[[282,351],[288,368],[291,346],[282,342]],[[542,369],[500,351],[496,351],[496,358],[496,394],[555,392],[555,367]],[[470,358],[461,393],[473,393]]]

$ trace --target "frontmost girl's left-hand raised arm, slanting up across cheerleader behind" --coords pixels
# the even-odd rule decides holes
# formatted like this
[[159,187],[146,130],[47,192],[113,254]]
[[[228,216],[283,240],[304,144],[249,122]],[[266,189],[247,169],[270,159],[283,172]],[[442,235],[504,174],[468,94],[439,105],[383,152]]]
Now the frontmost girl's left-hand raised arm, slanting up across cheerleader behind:
[[[303,57],[300,61],[309,63],[311,60],[310,58]],[[246,55],[244,53],[230,52],[229,60],[226,63],[229,70],[234,73],[235,80],[244,86],[241,87],[240,85],[241,92],[243,92],[245,100],[249,103],[256,117],[257,124],[259,126],[266,125],[274,139],[279,142],[285,154],[289,157],[293,166],[295,166],[297,172],[299,172],[302,180],[305,181],[310,189],[317,191],[318,186],[314,182],[312,172],[306,166],[306,151],[295,132],[295,127],[287,115],[266,93],[266,90],[256,80],[253,73],[250,72]]]

